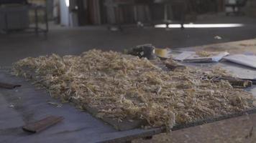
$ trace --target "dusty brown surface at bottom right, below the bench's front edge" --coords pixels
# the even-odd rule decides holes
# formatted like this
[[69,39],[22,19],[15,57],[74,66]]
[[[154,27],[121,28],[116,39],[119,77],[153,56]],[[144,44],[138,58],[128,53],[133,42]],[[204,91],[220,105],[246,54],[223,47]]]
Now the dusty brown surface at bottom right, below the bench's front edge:
[[256,139],[255,119],[256,114],[244,115],[243,117],[181,129],[170,132],[170,134],[160,134],[150,140],[134,140],[133,143],[253,143]]

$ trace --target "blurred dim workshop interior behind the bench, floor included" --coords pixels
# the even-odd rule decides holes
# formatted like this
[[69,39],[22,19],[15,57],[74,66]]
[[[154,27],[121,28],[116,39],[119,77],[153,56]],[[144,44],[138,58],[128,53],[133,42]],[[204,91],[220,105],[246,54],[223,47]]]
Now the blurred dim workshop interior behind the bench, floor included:
[[0,0],[0,65],[27,56],[256,36],[255,0]]

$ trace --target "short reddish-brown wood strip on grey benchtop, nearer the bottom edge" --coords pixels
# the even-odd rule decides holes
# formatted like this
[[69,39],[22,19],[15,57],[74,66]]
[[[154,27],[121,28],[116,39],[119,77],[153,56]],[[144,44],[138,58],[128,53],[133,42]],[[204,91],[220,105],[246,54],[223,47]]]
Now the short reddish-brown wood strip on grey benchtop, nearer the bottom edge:
[[58,122],[61,122],[63,119],[64,119],[63,117],[50,116],[50,117],[46,117],[45,119],[41,119],[40,121],[31,123],[31,124],[26,124],[24,127],[22,127],[22,129],[25,132],[37,133],[37,132],[41,132],[47,127],[50,127],[54,124],[57,124]]

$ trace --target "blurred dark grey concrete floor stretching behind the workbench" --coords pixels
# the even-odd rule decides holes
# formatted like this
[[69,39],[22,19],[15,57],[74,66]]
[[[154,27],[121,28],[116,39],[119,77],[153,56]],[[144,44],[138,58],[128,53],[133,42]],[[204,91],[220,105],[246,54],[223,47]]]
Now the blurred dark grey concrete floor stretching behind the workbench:
[[[199,16],[197,23],[239,23],[237,28],[215,29],[144,29],[127,28],[108,31],[106,26],[87,26],[75,29],[50,26],[47,39],[35,34],[0,34],[0,66],[10,66],[27,56],[45,54],[81,54],[88,49],[122,51],[138,44],[151,43],[157,47],[187,47],[214,44],[256,37],[256,19],[247,17]],[[221,36],[222,39],[214,39]]]

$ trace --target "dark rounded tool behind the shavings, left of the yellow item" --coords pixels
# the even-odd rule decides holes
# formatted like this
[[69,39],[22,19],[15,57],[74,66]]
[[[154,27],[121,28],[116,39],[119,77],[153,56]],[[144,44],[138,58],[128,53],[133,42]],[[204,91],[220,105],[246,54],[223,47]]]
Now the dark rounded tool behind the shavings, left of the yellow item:
[[140,58],[145,57],[147,59],[155,59],[155,46],[152,44],[144,44],[136,46],[135,48],[129,49],[127,54],[132,54],[134,56],[139,56]]

